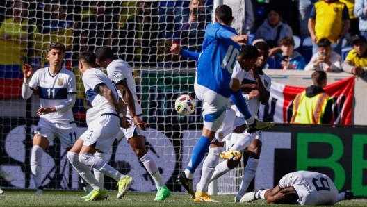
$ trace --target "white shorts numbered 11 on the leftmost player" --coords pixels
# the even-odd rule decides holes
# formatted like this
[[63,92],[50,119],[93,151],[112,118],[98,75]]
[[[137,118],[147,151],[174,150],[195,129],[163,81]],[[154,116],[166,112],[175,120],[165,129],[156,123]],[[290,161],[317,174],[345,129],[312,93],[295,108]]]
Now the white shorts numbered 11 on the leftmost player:
[[80,135],[75,122],[70,122],[67,124],[53,124],[48,122],[46,119],[40,119],[38,126],[35,126],[34,128],[34,134],[39,134],[42,137],[47,138],[49,142],[52,142],[55,138],[58,138],[63,149],[73,147]]

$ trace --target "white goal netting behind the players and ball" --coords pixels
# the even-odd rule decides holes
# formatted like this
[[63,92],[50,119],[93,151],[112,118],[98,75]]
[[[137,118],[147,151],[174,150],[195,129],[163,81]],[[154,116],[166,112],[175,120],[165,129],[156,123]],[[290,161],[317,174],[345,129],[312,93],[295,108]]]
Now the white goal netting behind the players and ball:
[[[195,6],[195,3],[197,6]],[[234,10],[238,33],[243,30],[244,1],[225,0]],[[81,132],[86,130],[88,103],[76,57],[81,51],[95,51],[102,45],[113,48],[117,57],[134,67],[138,97],[149,129],[144,132],[148,153],[156,160],[163,179],[172,191],[183,191],[175,182],[188,164],[202,130],[202,103],[197,101],[193,115],[179,116],[174,101],[181,94],[195,97],[195,61],[170,53],[173,43],[184,49],[201,51],[205,25],[211,22],[211,1],[0,1],[0,165],[15,177],[2,187],[35,188],[30,159],[32,131],[36,129],[40,108],[37,93],[22,99],[22,67],[34,70],[48,66],[45,49],[49,42],[66,45],[65,68],[77,81],[74,118]],[[67,161],[65,150],[56,139],[42,158],[44,188],[81,189],[79,175]],[[135,179],[131,190],[156,190],[154,181],[122,139],[108,153],[108,162],[122,174]],[[195,174],[199,181],[201,166]],[[218,192],[238,190],[243,168],[223,176]],[[116,182],[105,176],[104,186],[117,190]]]

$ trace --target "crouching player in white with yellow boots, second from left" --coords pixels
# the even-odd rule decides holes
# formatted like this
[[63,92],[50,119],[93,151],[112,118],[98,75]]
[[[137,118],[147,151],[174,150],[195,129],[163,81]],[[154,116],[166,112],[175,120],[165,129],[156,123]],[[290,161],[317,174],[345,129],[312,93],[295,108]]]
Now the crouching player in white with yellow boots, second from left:
[[85,93],[93,108],[87,112],[87,131],[75,142],[74,147],[67,153],[67,158],[76,172],[94,188],[92,196],[85,201],[103,200],[107,197],[107,190],[95,179],[90,167],[115,179],[119,187],[117,198],[121,198],[131,185],[130,176],[121,174],[93,154],[97,151],[107,153],[120,127],[128,128],[129,122],[117,101],[119,97],[115,83],[104,72],[95,68],[95,53],[84,51],[78,60]]

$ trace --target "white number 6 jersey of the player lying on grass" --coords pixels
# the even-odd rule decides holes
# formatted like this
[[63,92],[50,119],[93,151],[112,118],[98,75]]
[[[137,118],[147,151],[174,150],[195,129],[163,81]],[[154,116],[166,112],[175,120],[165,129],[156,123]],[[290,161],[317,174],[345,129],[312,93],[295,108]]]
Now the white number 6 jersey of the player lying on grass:
[[298,203],[310,206],[334,205],[338,201],[338,190],[326,174],[311,171],[297,171],[280,179],[279,188],[293,187]]

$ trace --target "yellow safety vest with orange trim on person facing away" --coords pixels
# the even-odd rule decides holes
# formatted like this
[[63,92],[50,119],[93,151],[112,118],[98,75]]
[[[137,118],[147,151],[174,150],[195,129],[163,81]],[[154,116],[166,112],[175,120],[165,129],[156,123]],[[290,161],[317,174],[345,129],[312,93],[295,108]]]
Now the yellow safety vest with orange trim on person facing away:
[[307,97],[306,91],[297,94],[293,101],[291,124],[321,124],[327,101],[332,99],[325,92]]

